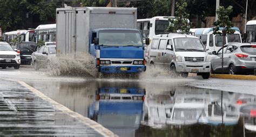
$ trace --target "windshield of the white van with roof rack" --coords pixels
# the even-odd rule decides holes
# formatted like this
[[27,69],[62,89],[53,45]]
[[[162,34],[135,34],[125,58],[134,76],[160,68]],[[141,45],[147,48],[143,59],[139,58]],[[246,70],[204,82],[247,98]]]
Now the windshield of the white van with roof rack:
[[176,38],[174,47],[176,52],[206,52],[200,39],[196,38]]

